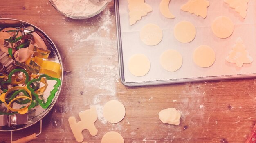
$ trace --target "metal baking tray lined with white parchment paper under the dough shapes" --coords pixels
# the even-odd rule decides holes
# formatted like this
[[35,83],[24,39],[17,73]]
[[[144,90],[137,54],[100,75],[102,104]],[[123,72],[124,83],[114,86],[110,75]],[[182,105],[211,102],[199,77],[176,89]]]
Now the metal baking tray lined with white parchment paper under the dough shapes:
[[[159,11],[160,0],[145,0],[153,8],[153,11],[130,26],[127,0],[115,0],[119,72],[124,85],[159,85],[256,76],[256,43],[254,42],[256,38],[256,10],[254,9],[256,2],[249,1],[247,17],[243,19],[223,0],[209,0],[208,14],[203,19],[180,9],[187,1],[171,0],[169,8],[176,18],[167,19]],[[227,39],[220,39],[211,31],[211,23],[218,16],[227,16],[234,22],[235,30]],[[197,29],[197,35],[190,43],[180,43],[173,35],[175,24],[183,20],[193,23]],[[149,23],[157,24],[163,30],[163,39],[156,46],[145,45],[139,37],[141,28]],[[228,63],[225,60],[238,37],[243,39],[243,44],[254,59],[254,62],[244,64],[243,67],[237,67],[236,64]],[[200,45],[208,45],[215,51],[216,61],[211,67],[201,68],[193,62],[193,51]],[[168,49],[179,51],[183,57],[183,65],[176,72],[164,70],[159,63],[160,55]],[[145,54],[150,59],[151,68],[145,76],[137,77],[129,72],[128,61],[133,54]]]

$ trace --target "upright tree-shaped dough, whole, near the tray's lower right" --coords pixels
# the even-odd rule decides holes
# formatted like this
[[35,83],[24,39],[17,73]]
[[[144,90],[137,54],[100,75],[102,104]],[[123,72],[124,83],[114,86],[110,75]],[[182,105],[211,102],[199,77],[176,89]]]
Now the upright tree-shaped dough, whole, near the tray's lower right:
[[236,45],[231,52],[229,52],[229,56],[226,58],[229,63],[236,63],[236,66],[242,67],[243,64],[252,63],[253,59],[249,55],[249,52],[246,50],[245,45],[243,45],[243,40],[239,37],[236,40]]

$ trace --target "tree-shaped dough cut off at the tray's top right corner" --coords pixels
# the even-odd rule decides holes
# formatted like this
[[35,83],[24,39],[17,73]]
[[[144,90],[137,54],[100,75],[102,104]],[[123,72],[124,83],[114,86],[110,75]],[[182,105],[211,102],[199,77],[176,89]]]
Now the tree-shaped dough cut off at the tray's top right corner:
[[247,8],[249,0],[224,0],[229,7],[234,8],[243,18],[247,15]]

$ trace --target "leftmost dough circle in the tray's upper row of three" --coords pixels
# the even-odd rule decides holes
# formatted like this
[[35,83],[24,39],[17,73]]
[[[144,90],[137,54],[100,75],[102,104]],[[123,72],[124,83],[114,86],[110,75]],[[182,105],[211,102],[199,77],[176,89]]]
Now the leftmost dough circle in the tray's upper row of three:
[[156,24],[147,24],[140,31],[140,39],[146,45],[157,45],[162,41],[163,31]]

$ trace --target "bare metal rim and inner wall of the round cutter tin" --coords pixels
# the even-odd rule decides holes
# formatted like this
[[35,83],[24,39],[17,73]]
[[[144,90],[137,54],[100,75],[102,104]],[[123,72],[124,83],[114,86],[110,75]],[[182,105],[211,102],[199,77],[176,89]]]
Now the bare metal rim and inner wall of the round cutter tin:
[[[40,37],[44,41],[46,41],[47,44],[49,45],[50,49],[47,46],[48,50],[51,51],[51,54],[50,54],[49,57],[52,58],[52,60],[55,60],[55,61],[57,61],[57,62],[59,62],[61,64],[61,85],[58,88],[58,92],[56,93],[56,95],[55,95],[51,105],[47,109],[44,109],[44,110],[40,111],[40,113],[38,115],[35,115],[35,116],[34,115],[28,115],[28,124],[11,126],[11,127],[2,126],[0,128],[0,131],[3,131],[3,132],[22,130],[22,129],[27,128],[27,127],[29,127],[29,126],[31,126],[33,124],[36,124],[38,121],[40,121],[53,108],[54,104],[56,103],[56,101],[58,99],[58,96],[60,94],[61,87],[62,87],[62,79],[63,79],[63,66],[62,65],[63,64],[62,64],[62,61],[61,61],[60,53],[58,52],[58,49],[56,48],[56,45],[54,44],[52,39],[50,39],[49,36],[47,34],[45,34],[45,32],[43,32],[43,30],[41,30],[40,28],[34,26],[33,24],[27,23],[27,22],[22,21],[22,20],[16,20],[16,19],[10,19],[10,18],[0,18],[0,28],[7,27],[7,26],[8,27],[18,27],[20,25],[20,23],[22,23],[25,26],[32,26],[32,27],[34,27],[34,30],[36,32],[38,32]],[[31,110],[33,110],[33,109],[31,109]]]

